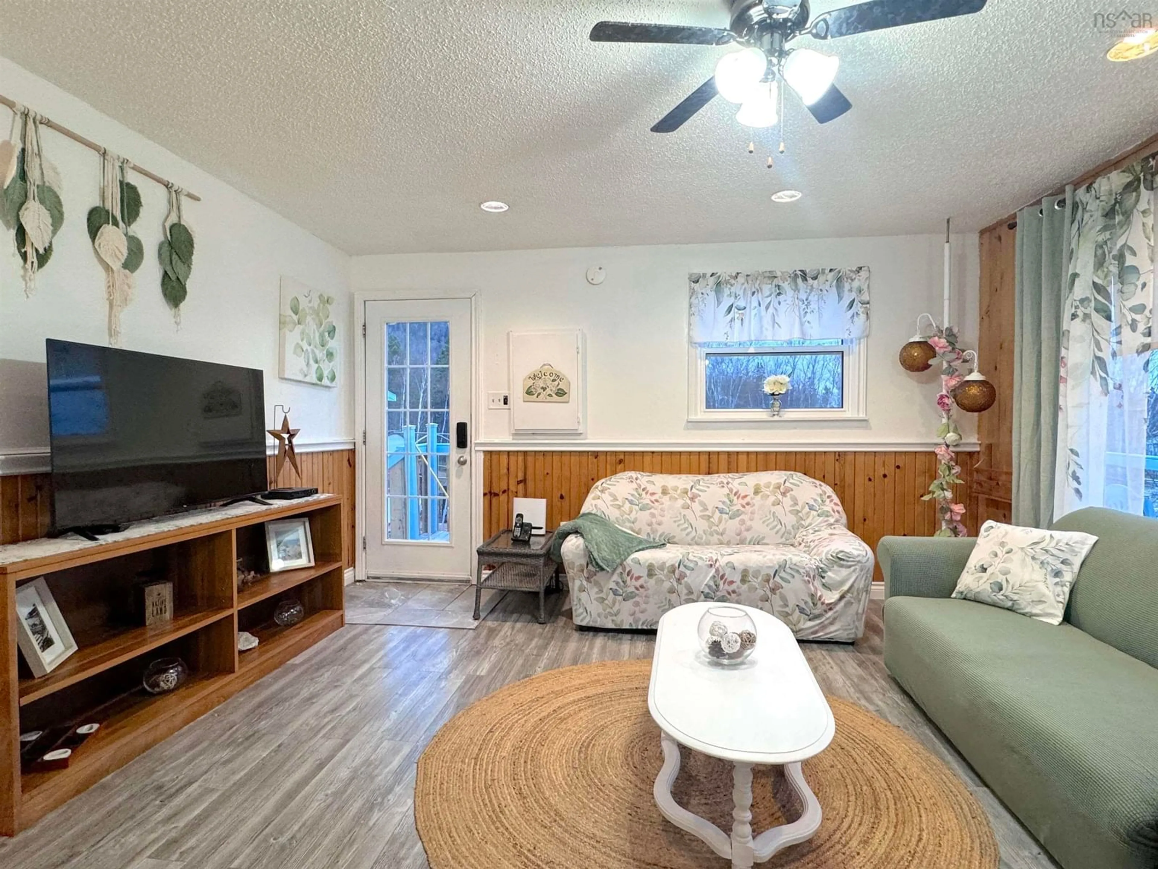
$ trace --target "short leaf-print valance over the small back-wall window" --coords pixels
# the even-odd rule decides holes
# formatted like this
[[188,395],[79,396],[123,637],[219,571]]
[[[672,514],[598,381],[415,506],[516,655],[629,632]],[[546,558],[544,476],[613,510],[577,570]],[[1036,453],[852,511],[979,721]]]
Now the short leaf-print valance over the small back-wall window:
[[868,335],[868,266],[688,276],[692,344]]

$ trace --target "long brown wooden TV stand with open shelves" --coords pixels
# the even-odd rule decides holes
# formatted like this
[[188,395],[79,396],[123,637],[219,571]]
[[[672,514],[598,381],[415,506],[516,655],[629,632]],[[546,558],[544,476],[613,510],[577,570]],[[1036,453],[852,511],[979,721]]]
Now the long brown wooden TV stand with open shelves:
[[[237,591],[237,560],[264,570],[263,524],[309,517],[315,567],[263,576]],[[316,495],[139,523],[100,542],[30,540],[0,546],[0,834],[15,835],[185,724],[281,666],[345,623],[342,498]],[[47,676],[17,660],[17,585],[44,577],[78,644]],[[173,583],[174,618],[152,628],[130,616],[140,577]],[[288,628],[273,607],[295,598],[305,619]],[[237,631],[259,638],[237,651]],[[177,656],[189,680],[169,694],[140,689],[145,666]],[[24,772],[20,733],[98,723],[65,769]]]

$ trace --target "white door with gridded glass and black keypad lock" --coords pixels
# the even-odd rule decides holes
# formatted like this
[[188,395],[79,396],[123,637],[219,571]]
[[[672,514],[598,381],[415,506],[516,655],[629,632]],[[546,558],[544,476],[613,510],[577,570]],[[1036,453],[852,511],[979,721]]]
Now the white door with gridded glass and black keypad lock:
[[470,299],[366,302],[366,575],[471,576]]

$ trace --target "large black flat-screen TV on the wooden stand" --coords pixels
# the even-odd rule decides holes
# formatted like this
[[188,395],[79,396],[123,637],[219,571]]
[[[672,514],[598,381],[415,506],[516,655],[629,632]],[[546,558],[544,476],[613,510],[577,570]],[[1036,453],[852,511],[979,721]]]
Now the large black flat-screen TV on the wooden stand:
[[45,343],[56,532],[269,488],[261,371]]

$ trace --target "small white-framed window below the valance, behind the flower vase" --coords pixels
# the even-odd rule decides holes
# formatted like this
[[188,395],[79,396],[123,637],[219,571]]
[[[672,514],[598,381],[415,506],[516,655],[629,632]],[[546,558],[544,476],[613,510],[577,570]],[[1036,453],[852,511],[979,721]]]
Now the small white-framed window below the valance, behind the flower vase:
[[864,415],[860,341],[768,341],[692,348],[689,417],[739,422],[769,418],[764,380],[786,374],[782,416],[848,419]]

